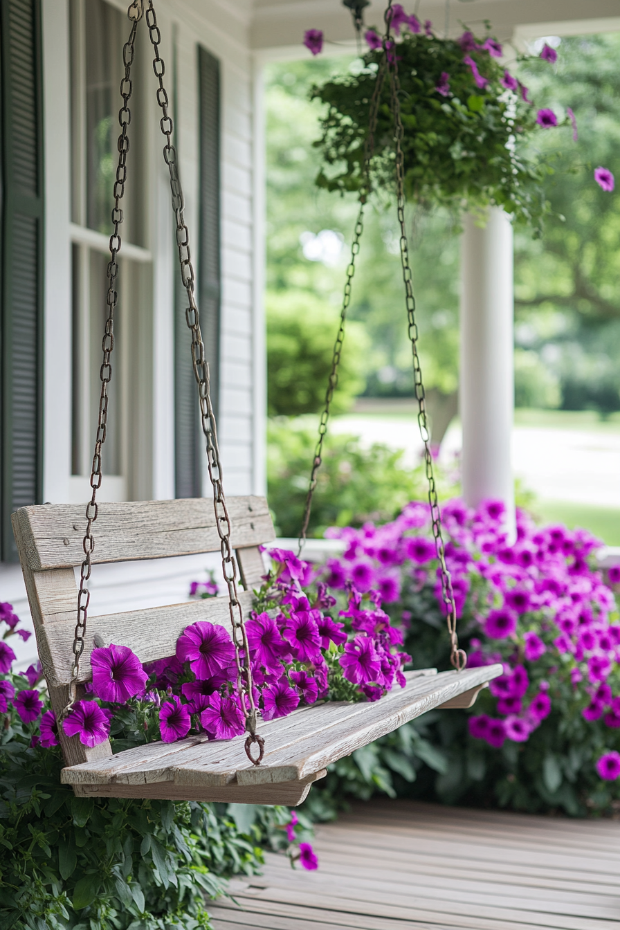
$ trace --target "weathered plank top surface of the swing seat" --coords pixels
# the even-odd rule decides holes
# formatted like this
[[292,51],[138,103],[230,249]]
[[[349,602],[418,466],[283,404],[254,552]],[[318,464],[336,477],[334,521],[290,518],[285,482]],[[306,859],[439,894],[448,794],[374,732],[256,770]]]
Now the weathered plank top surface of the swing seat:
[[214,741],[190,737],[178,743],[150,743],[65,768],[62,780],[81,785],[134,786],[167,781],[188,788],[217,788],[232,782],[249,787],[303,781],[502,671],[501,665],[495,665],[439,675],[407,672],[406,687],[389,692],[376,703],[328,702],[262,722],[259,732],[265,739],[265,757],[259,766],[251,765],[245,756],[244,737]]

